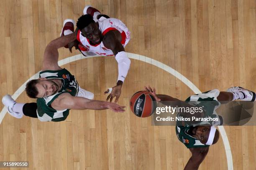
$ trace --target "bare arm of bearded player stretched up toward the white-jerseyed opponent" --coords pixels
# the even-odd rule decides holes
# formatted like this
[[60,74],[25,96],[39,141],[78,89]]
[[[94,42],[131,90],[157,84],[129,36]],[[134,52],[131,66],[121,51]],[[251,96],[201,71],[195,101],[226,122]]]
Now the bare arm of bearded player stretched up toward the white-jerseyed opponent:
[[61,70],[61,67],[59,67],[58,65],[58,48],[64,47],[69,42],[72,42],[74,40],[76,40],[76,36],[74,33],[52,40],[44,50],[42,70]]

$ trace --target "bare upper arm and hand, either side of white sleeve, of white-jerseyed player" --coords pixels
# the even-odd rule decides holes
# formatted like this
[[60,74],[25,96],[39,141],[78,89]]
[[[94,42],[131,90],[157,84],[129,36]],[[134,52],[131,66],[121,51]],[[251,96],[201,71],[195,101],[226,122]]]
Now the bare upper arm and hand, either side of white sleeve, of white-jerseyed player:
[[[117,55],[118,52],[125,51],[123,45],[121,44],[122,36],[121,33],[118,30],[112,30],[107,32],[103,37],[103,44],[106,48],[112,50],[114,55]],[[110,95],[108,95],[107,100],[110,99],[110,102],[112,102],[113,98],[115,98],[115,102],[118,101],[120,95],[121,95],[121,87],[123,85],[123,81],[118,80],[116,83],[116,86],[113,87],[113,90]],[[104,92],[105,94],[108,93],[108,90]]]

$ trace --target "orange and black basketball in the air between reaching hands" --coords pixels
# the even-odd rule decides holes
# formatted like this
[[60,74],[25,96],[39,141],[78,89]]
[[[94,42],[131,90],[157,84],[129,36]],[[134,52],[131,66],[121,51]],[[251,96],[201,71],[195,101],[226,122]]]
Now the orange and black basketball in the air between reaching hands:
[[131,111],[138,117],[148,117],[156,109],[156,100],[150,92],[136,92],[130,100]]

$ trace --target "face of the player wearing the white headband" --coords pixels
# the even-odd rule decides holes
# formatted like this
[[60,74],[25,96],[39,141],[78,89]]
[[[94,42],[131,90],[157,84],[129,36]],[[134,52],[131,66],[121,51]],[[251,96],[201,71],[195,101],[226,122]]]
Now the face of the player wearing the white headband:
[[193,129],[195,138],[200,140],[201,143],[205,144],[209,138],[211,127],[210,126],[197,126]]

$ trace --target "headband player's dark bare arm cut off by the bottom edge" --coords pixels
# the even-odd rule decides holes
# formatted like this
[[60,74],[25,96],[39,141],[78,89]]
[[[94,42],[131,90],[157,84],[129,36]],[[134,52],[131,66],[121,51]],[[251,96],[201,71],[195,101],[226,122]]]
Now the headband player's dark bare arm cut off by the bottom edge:
[[205,159],[209,151],[209,147],[206,148],[189,148],[192,156],[189,158],[184,170],[198,170],[199,165]]

